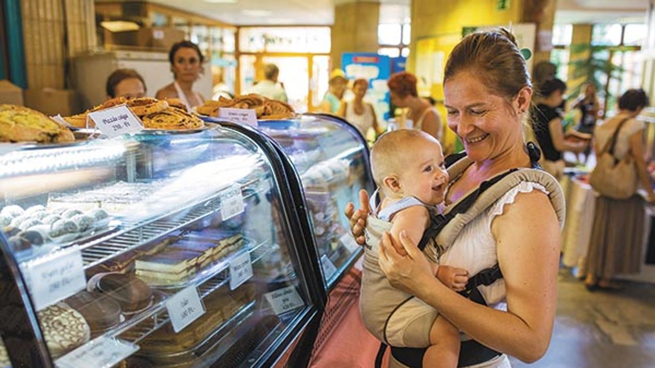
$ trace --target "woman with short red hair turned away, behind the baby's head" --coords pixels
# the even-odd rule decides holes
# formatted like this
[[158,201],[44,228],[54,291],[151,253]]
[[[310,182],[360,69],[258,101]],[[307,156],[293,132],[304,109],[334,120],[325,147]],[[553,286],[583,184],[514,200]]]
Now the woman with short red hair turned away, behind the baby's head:
[[416,76],[411,73],[403,71],[392,75],[386,82],[391,91],[391,103],[397,107],[409,107],[407,118],[413,121],[413,128],[441,141],[441,116],[428,101],[419,97],[416,83]]

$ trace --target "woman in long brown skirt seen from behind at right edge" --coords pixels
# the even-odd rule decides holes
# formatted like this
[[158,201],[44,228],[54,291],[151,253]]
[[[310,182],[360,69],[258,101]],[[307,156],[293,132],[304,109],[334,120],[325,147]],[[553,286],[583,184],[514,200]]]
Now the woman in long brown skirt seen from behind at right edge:
[[[648,97],[644,90],[627,90],[618,101],[618,114],[595,128],[594,150],[601,152],[618,125],[625,120],[616,138],[614,158],[622,160],[626,155],[632,156],[639,182],[648,194],[647,200],[655,203],[655,192],[644,160],[646,126],[636,119],[647,105]],[[614,276],[639,273],[641,267],[645,216],[643,199],[637,193],[628,199],[600,195],[595,199],[594,208],[584,283],[589,290],[596,287],[618,288],[619,285],[612,281]]]

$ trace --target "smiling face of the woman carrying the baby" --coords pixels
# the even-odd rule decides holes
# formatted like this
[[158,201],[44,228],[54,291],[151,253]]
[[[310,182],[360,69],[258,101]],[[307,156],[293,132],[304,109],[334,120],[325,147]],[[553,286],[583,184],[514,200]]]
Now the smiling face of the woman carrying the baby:
[[[510,104],[504,97],[490,93],[468,71],[446,80],[443,88],[448,126],[462,140],[469,158],[477,162],[493,159],[523,142],[518,110],[527,109],[528,88]],[[527,101],[523,101],[525,95],[519,101],[522,93],[527,93]]]

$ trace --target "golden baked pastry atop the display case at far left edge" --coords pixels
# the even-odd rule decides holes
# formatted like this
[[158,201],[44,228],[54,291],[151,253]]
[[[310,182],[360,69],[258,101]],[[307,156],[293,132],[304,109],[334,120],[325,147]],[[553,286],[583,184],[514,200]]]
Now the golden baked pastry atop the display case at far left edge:
[[45,114],[27,107],[0,105],[0,141],[73,142],[73,133]]

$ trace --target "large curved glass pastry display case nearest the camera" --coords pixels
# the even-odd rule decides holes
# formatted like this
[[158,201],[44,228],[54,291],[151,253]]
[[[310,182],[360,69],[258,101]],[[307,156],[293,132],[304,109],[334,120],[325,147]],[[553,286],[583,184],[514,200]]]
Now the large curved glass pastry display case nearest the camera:
[[307,359],[284,353],[326,295],[266,142],[208,124],[0,152],[0,366]]

